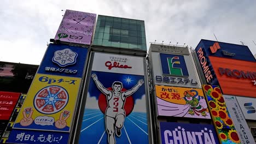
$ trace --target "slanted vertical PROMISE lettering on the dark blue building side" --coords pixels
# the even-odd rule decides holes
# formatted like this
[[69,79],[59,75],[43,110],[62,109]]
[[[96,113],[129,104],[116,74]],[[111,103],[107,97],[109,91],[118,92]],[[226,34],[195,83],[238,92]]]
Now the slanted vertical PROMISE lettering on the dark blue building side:
[[201,67],[203,69],[203,74],[205,74],[206,81],[209,83],[213,79],[212,78],[212,73],[211,73],[211,70],[210,70],[210,68],[207,64],[207,59],[203,54],[204,53],[202,51],[202,47],[200,47],[200,49],[197,51],[197,56],[199,58]]

